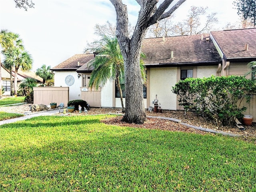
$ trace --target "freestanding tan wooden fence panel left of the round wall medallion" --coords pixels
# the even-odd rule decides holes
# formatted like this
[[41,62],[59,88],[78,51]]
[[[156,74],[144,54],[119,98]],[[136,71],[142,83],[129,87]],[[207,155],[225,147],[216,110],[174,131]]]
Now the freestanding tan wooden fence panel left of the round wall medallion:
[[33,87],[34,104],[49,105],[51,102],[56,102],[57,106],[64,103],[68,105],[69,87]]

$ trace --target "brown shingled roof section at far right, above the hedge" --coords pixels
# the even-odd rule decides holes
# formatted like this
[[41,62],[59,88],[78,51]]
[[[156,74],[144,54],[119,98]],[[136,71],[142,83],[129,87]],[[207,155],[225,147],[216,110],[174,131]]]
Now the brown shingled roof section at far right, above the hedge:
[[[224,54],[224,59],[256,59],[256,28],[214,31],[211,36]],[[245,44],[248,44],[248,50],[245,50]]]

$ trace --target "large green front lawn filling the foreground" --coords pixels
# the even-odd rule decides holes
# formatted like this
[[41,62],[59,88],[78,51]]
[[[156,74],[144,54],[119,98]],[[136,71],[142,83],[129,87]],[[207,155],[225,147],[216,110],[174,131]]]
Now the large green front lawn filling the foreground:
[[256,191],[256,145],[236,138],[41,116],[0,126],[0,191]]

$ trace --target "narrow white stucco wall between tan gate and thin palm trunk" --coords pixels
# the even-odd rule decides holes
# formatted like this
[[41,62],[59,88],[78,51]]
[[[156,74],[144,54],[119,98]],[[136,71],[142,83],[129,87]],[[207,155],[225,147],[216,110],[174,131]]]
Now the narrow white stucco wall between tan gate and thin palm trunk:
[[101,106],[113,107],[113,82],[107,81],[106,85],[101,89]]

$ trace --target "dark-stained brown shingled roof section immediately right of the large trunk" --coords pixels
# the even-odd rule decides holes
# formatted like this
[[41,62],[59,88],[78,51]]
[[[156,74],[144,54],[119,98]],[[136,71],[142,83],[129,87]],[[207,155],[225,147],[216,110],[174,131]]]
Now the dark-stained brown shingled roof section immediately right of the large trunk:
[[144,39],[142,52],[146,54],[143,60],[147,67],[214,65],[221,62],[209,34]]

